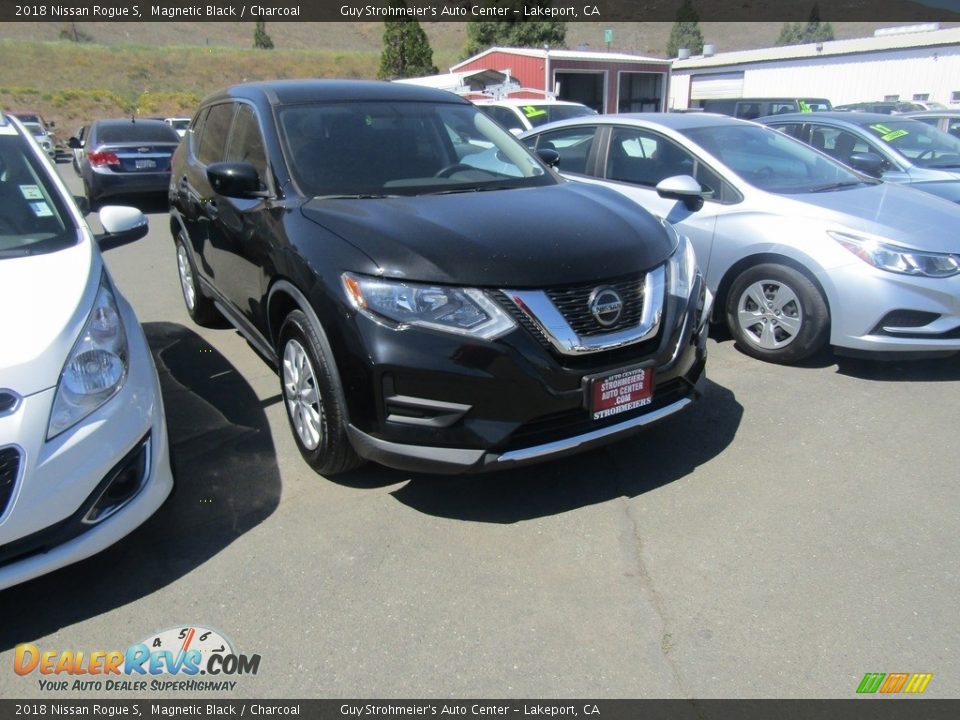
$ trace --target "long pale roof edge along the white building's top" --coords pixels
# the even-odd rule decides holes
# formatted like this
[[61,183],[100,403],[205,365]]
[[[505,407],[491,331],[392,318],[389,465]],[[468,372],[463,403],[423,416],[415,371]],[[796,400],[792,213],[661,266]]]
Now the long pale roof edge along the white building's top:
[[830,57],[831,55],[851,55],[856,53],[907,50],[943,45],[960,45],[960,28],[904,33],[902,35],[853,38],[850,40],[831,40],[819,43],[820,50],[817,50],[818,43],[808,43],[806,45],[787,45],[784,47],[760,48],[758,50],[738,50],[734,52],[717,53],[710,57],[692,57],[689,60],[674,60],[673,70],[677,72],[697,70],[700,68],[725,67],[727,65],[743,65],[745,63],[801,60],[806,58]]

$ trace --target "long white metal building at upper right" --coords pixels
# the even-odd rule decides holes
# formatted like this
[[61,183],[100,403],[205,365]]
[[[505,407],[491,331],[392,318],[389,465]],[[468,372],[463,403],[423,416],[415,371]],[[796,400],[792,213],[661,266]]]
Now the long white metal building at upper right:
[[697,107],[708,98],[738,97],[960,106],[960,28],[891,28],[869,38],[675,60],[669,97],[675,110]]

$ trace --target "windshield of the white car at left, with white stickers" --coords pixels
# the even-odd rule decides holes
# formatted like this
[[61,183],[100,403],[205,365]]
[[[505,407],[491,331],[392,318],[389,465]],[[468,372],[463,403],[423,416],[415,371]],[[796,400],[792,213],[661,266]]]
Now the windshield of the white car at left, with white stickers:
[[0,260],[49,252],[77,228],[42,162],[18,135],[0,135]]

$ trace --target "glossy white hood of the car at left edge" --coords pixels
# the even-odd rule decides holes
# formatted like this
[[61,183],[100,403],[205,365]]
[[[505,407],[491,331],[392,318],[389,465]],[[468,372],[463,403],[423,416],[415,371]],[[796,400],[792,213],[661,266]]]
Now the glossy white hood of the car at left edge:
[[102,268],[86,234],[65,250],[0,259],[0,388],[26,397],[57,384]]

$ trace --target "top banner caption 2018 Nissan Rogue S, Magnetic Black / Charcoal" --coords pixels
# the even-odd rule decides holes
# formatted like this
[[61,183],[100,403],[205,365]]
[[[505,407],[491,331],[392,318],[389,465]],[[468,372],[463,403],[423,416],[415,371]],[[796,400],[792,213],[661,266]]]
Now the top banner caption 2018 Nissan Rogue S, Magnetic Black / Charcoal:
[[175,20],[178,18],[198,19],[231,19],[243,18],[297,18],[302,15],[300,5],[258,5],[255,3],[243,5],[128,5],[128,4],[83,4],[71,5],[67,3],[24,4],[16,5],[14,15],[17,18],[90,18],[91,20],[115,20],[126,18],[130,20],[157,19]]

